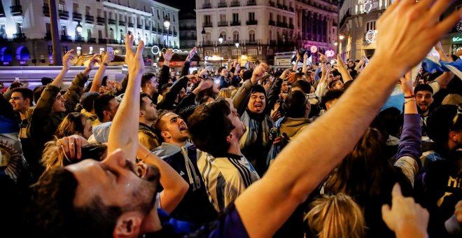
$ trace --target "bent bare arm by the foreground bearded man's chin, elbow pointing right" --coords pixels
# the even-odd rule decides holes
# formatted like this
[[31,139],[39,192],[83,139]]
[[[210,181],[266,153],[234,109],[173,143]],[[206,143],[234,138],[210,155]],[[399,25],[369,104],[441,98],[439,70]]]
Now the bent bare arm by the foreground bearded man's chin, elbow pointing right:
[[169,214],[172,213],[188,192],[188,183],[167,162],[151,153],[148,148],[141,144],[139,144],[137,155],[146,164],[158,167],[160,184],[164,188],[160,193],[160,208]]

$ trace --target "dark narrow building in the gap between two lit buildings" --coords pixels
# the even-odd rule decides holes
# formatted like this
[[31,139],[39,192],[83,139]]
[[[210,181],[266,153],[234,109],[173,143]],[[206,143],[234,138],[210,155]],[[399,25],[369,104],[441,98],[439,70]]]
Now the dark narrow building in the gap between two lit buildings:
[[197,27],[195,13],[180,13],[181,50],[192,50],[197,46]]

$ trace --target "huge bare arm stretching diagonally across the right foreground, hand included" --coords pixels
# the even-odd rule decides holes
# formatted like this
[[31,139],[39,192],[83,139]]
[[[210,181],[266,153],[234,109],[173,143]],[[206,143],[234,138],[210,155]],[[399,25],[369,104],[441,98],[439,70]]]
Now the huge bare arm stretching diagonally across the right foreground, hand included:
[[[358,82],[344,92],[335,107],[290,141],[265,176],[237,198],[235,205],[250,237],[274,235],[353,149],[400,76],[420,62],[460,19],[462,10],[439,21],[450,2],[402,0],[381,15],[377,22],[380,32],[377,50],[369,66],[356,79]],[[394,55],[403,57],[397,59]],[[338,123],[338,118],[342,118],[343,123]],[[332,149],[332,144],[342,146]],[[306,145],[313,149],[307,151]],[[259,202],[253,202],[255,200]]]

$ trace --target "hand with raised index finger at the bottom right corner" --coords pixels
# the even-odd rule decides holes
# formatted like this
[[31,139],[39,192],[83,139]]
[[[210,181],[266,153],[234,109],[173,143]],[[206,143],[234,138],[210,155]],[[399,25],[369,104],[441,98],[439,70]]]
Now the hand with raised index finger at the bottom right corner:
[[410,228],[417,232],[426,233],[428,211],[416,204],[412,197],[403,197],[398,183],[393,187],[391,197],[392,207],[390,208],[388,204],[381,207],[381,217],[388,228],[393,232]]

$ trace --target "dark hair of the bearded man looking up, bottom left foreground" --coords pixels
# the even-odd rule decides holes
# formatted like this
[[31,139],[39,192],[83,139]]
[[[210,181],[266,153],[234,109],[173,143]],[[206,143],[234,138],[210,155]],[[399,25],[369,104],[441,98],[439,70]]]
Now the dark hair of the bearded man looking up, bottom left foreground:
[[106,207],[99,197],[85,207],[75,207],[78,181],[59,167],[45,172],[31,187],[27,223],[38,237],[112,237],[120,207]]

